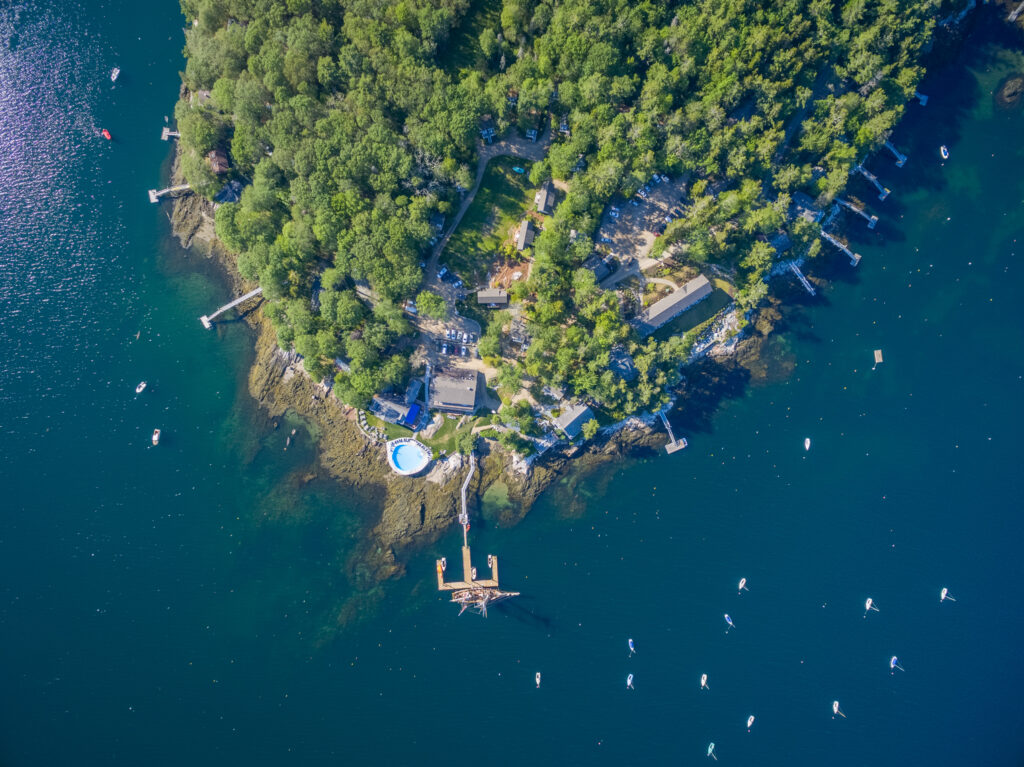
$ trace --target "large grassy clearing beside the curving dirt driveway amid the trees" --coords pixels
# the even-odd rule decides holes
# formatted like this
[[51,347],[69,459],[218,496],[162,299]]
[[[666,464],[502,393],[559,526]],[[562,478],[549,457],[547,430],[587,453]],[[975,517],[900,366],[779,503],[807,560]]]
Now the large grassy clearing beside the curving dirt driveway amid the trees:
[[[510,157],[495,158],[487,164],[480,189],[441,256],[468,286],[486,276],[502,243],[534,204],[529,166],[525,160]],[[522,168],[525,173],[512,168]]]

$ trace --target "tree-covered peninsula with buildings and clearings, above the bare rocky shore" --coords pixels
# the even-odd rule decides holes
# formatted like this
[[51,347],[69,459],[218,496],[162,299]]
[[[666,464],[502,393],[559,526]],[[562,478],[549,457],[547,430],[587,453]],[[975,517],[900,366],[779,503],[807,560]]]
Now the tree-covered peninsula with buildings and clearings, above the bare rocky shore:
[[[432,446],[482,437],[520,456],[664,408],[701,334],[756,321],[773,268],[834,257],[818,212],[871,191],[851,173],[888,140],[936,25],[958,10],[181,7],[181,171],[217,201],[217,238],[262,287],[280,346],[389,437],[426,423],[387,417],[411,378],[429,389],[472,371],[480,392],[461,410],[426,395],[423,416],[467,417],[433,424],[447,441]],[[714,312],[658,325],[696,291],[722,297]]]

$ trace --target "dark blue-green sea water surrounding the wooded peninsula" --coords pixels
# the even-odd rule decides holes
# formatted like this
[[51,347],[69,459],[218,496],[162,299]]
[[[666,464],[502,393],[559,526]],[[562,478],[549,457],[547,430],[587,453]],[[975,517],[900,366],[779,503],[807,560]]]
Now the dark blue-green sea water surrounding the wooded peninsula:
[[792,374],[474,523],[523,593],[486,621],[434,590],[453,529],[340,626],[375,510],[302,482],[251,335],[196,321],[226,288],[145,197],[182,20],[142,5],[0,8],[0,763],[1024,761],[1024,115],[992,99],[1024,56],[977,34],[925,82],[861,265],[772,345]]

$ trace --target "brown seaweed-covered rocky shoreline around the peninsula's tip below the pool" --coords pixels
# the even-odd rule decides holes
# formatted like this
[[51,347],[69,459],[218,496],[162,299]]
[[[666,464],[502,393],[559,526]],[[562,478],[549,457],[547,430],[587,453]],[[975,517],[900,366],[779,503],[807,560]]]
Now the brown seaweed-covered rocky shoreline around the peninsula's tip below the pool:
[[[177,161],[172,178],[180,178]],[[220,266],[233,293],[249,290],[236,268],[233,257],[220,245],[213,224],[214,206],[198,195],[174,200],[172,230],[181,246],[212,259]],[[256,358],[249,372],[249,393],[270,419],[286,413],[314,423],[319,430],[318,461],[323,470],[354,492],[380,499],[380,513],[368,524],[359,546],[347,558],[346,574],[357,592],[367,592],[381,582],[400,577],[404,560],[419,548],[430,545],[452,529],[458,517],[460,487],[465,471],[461,466],[423,477],[401,477],[387,465],[383,445],[371,442],[349,417],[348,409],[322,384],[305,375],[297,357],[283,351],[270,325],[257,312],[245,315],[256,338]],[[522,519],[541,493],[570,467],[574,471],[621,461],[644,450],[654,451],[666,440],[633,419],[621,428],[605,430],[582,449],[553,448],[531,462],[523,473],[513,467],[510,456],[481,440],[480,471],[469,486],[473,509],[479,509],[492,487],[503,503],[488,521],[515,524]],[[453,457],[450,462],[459,462]]]

